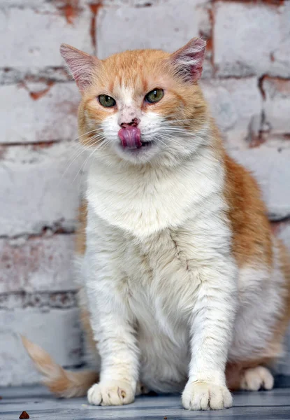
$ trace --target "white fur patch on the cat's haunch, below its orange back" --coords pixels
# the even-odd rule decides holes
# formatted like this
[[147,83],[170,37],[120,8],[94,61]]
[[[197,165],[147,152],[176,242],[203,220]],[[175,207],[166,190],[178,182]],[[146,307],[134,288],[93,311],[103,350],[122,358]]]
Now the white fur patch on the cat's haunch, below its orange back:
[[274,265],[245,267],[240,270],[239,307],[235,319],[235,335],[229,360],[275,358],[282,352],[281,344],[268,346],[272,331],[283,306],[283,283],[279,251],[274,241]]

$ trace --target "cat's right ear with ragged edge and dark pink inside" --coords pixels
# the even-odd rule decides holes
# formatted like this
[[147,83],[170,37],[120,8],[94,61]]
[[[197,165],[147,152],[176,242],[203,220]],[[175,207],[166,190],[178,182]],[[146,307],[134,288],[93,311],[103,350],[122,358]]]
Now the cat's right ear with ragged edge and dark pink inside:
[[201,38],[191,39],[184,47],[171,54],[171,63],[175,74],[188,82],[195,82],[201,77],[206,42]]

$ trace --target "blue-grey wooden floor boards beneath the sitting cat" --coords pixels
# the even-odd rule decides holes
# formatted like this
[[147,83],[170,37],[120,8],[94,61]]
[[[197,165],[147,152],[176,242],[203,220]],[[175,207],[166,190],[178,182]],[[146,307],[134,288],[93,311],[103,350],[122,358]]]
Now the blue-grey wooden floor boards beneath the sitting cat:
[[[289,379],[289,378],[288,378]],[[85,398],[61,400],[41,386],[0,388],[0,420],[17,420],[22,411],[31,420],[108,419],[290,419],[290,379],[273,391],[240,392],[233,395],[233,407],[217,412],[189,412],[182,409],[180,395],[141,396],[131,405],[93,407]],[[289,386],[289,387],[287,387]]]

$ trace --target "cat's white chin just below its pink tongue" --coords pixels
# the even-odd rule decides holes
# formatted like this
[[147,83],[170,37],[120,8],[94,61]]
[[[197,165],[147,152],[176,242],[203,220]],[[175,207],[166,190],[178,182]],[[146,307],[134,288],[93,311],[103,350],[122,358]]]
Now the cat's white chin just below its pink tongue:
[[153,141],[147,141],[136,148],[123,147],[122,144],[116,145],[117,154],[124,160],[129,160],[133,163],[149,162],[157,153],[157,150],[158,146]]

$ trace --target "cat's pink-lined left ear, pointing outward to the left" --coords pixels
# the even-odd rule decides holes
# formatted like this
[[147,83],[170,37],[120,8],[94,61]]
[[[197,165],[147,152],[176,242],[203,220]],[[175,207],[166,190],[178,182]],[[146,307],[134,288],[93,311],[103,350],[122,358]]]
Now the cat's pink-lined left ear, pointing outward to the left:
[[92,83],[96,67],[99,66],[99,59],[66,44],[61,44],[60,53],[66,60],[80,92],[83,92]]

